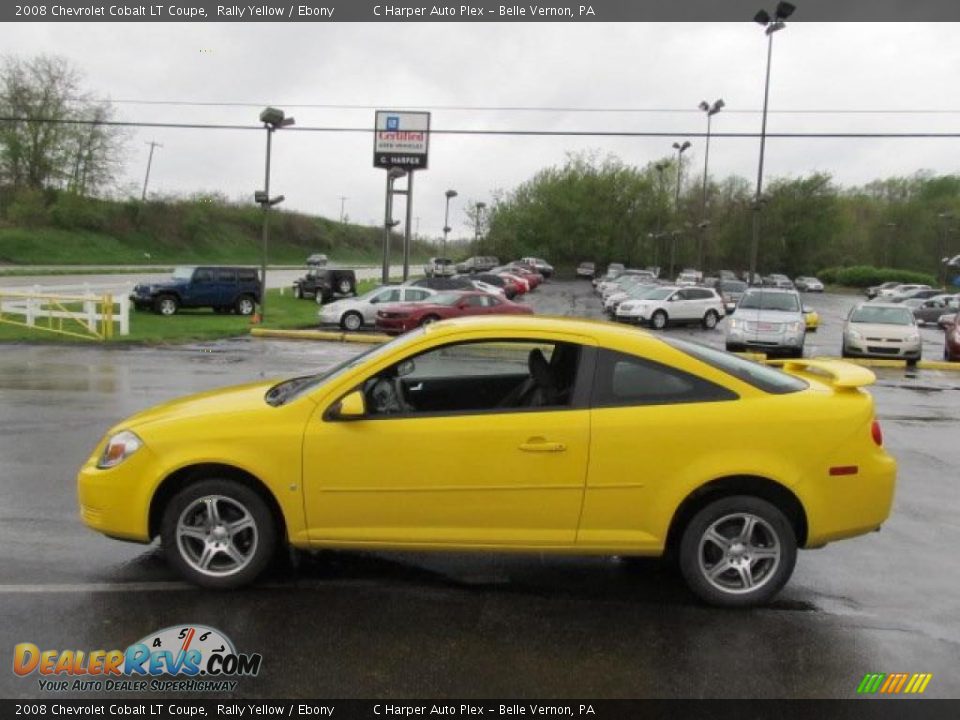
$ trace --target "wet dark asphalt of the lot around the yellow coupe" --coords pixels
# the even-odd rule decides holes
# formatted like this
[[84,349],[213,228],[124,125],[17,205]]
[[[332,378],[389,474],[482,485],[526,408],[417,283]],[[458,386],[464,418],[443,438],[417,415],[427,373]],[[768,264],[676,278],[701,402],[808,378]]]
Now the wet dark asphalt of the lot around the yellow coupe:
[[[837,354],[856,300],[808,299],[821,314],[808,354]],[[549,283],[526,302],[598,309],[585,282]],[[722,325],[667,332],[723,342]],[[939,358],[941,332],[922,332],[925,357]],[[960,373],[877,370],[872,393],[900,463],[893,515],[880,533],[801,553],[761,609],[705,607],[654,560],[540,555],[303,554],[253,588],[215,593],[177,580],[157,547],[81,524],[75,474],[113,423],[359,350],[252,339],[0,346],[0,697],[54,697],[36,675],[10,672],[16,643],[124,648],[188,623],[263,655],[259,676],[221,697],[851,698],[868,672],[933,673],[926,696],[960,696]],[[91,695],[59,697],[71,696]]]

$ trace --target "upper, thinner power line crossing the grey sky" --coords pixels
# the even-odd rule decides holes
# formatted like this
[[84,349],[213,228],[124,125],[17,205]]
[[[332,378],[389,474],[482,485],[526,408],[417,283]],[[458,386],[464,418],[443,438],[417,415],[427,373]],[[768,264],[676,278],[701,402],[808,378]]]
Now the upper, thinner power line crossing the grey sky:
[[[91,102],[89,98],[68,97],[68,100]],[[203,100],[147,100],[127,98],[111,100],[103,98],[92,102],[113,103],[116,105],[170,105],[180,107],[237,107],[263,108],[270,103],[234,102],[234,101],[203,101]],[[536,105],[394,105],[391,103],[380,105],[352,104],[352,103],[273,103],[291,109],[316,110],[380,110],[389,107],[395,110],[442,110],[463,112],[565,112],[565,113],[699,113],[697,108],[657,108],[657,107],[573,107],[573,106],[536,106]],[[728,114],[758,115],[760,109],[727,108]],[[960,115],[960,109],[949,108],[781,108],[768,110],[768,114],[778,115]]]

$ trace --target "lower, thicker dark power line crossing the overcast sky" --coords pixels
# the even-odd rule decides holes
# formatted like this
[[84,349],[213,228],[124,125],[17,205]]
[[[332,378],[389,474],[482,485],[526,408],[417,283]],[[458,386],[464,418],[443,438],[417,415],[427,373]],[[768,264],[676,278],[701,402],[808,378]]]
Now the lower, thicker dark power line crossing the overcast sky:
[[[0,122],[32,122],[62,125],[104,125],[109,127],[132,128],[166,128],[173,130],[258,130],[262,125],[224,125],[209,123],[164,123],[164,122],[136,122],[127,120],[65,120],[57,118],[23,118],[0,117]],[[374,132],[370,127],[311,127],[295,125],[285,128],[285,133],[292,132],[328,132],[328,133],[363,133],[369,135]],[[676,130],[470,130],[470,129],[430,129],[431,135],[513,135],[520,137],[670,137],[670,138],[705,138],[705,132],[678,132]],[[758,138],[757,132],[713,132],[712,137],[721,138]],[[960,138],[960,132],[777,132],[766,133],[772,138],[819,138],[819,139],[923,139],[923,138]]]

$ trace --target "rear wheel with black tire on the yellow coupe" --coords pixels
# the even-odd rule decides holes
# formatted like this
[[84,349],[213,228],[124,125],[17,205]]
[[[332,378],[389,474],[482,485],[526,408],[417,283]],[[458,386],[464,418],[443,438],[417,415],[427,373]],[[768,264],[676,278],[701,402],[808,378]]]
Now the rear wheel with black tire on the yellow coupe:
[[[746,520],[753,529],[742,533]],[[708,530],[730,541],[722,549],[710,540]],[[756,554],[765,556],[757,558]],[[750,495],[716,500],[700,510],[683,530],[680,540],[680,572],[697,597],[720,607],[748,607],[769,601],[786,584],[797,562],[797,538],[787,517],[775,505]],[[712,564],[711,564],[712,562]],[[710,579],[709,572],[723,564],[727,569]],[[744,572],[753,589],[744,582]]]

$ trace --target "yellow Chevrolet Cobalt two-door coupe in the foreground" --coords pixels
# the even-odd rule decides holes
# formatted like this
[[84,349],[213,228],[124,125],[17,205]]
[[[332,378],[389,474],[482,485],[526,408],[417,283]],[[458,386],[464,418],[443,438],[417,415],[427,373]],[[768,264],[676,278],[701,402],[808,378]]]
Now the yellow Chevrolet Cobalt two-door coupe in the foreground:
[[286,545],[669,552],[705,601],[751,605],[799,547],[886,520],[896,462],[873,380],[608,323],[452,320],[124,420],[80,471],[80,512],[111,537],[159,536],[213,588]]

